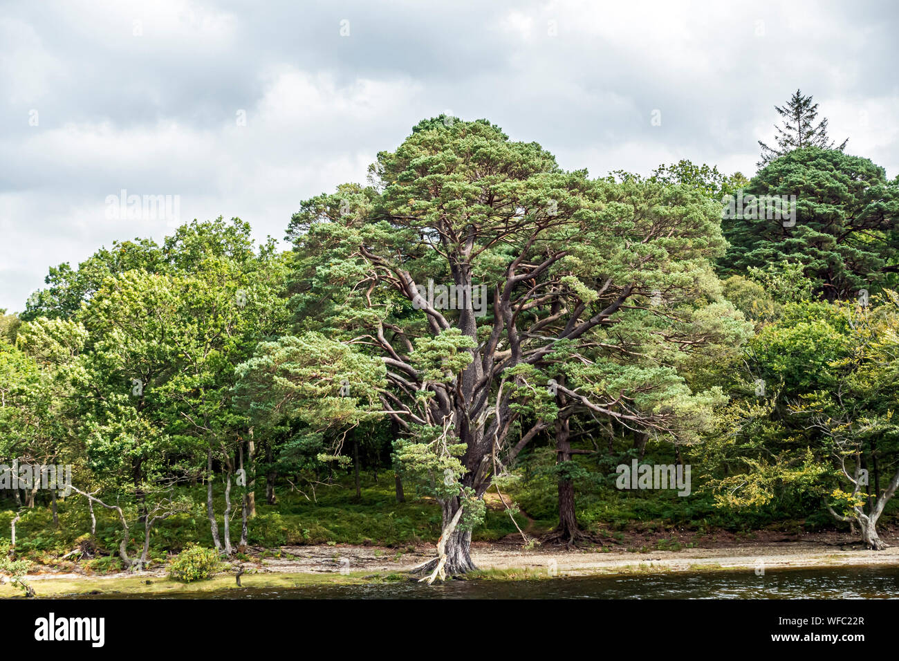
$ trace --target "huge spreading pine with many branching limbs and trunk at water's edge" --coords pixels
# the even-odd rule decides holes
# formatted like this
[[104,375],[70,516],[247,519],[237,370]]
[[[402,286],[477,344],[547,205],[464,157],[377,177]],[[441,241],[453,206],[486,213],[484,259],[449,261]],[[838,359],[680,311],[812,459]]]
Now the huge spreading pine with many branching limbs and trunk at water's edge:
[[[555,395],[672,436],[679,407],[715,394],[691,403],[690,389],[619,363],[643,361],[630,350],[645,334],[699,353],[743,325],[710,266],[725,242],[708,195],[592,180],[488,121],[448,120],[420,122],[378,154],[369,187],[303,202],[288,229],[298,329],[387,367],[381,406],[410,441],[400,459],[442,507],[435,573],[472,567],[480,499],[551,424]],[[665,370],[672,351],[654,349],[641,368]],[[549,382],[563,373],[570,381]],[[662,391],[673,406],[659,405]]]

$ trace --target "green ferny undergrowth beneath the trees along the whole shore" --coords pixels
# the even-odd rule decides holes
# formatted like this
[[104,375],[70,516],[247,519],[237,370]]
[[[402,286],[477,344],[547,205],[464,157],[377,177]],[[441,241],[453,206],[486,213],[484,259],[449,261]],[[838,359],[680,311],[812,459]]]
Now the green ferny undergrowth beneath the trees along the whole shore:
[[[551,531],[558,522],[557,487],[551,475],[531,475],[503,485],[507,502],[521,507],[515,514],[522,529],[529,528],[531,536]],[[151,540],[148,568],[164,567],[174,555],[191,544],[212,547],[209,521],[205,513],[205,487],[183,487],[181,493],[190,495],[195,508],[159,523]],[[783,518],[774,513],[724,513],[716,510],[709,496],[699,489],[690,498],[682,498],[672,491],[622,492],[608,484],[589,480],[575,483],[577,518],[583,529],[592,535],[597,550],[681,550],[695,546],[707,537],[719,541],[721,532],[733,540],[760,540],[764,533],[782,531],[802,534],[808,531],[832,530],[826,513],[797,513]],[[308,496],[308,497],[307,497]],[[263,487],[256,493],[257,515],[249,525],[250,546],[278,549],[282,546],[310,544],[358,544],[406,549],[419,543],[435,543],[441,533],[441,514],[438,505],[406,486],[405,503],[396,502],[393,473],[363,474],[361,497],[355,497],[352,476],[342,476],[330,486],[318,486],[313,495],[296,490],[278,490],[276,505],[265,502]],[[232,494],[234,518],[231,521],[232,543],[236,544],[240,530],[239,496]],[[4,501],[6,507],[12,501]],[[223,529],[221,513],[224,496],[217,487],[215,498],[219,530]],[[896,504],[891,502],[882,521],[886,529],[895,519]],[[38,506],[22,511],[16,525],[17,558],[32,560],[44,567],[71,568],[80,558],[80,568],[89,573],[107,574],[122,570],[118,557],[120,525],[116,515],[100,507],[97,516],[96,540],[89,539],[90,514],[81,496],[59,501],[59,526],[54,527],[49,507]],[[0,509],[0,541],[9,540],[12,509]],[[133,505],[127,508],[132,528],[129,551],[134,554],[143,544],[142,531]],[[532,521],[529,521],[528,517]],[[515,526],[503,507],[489,508],[485,523],[474,531],[476,541],[495,541],[512,535]],[[512,539],[512,538],[510,538]],[[93,549],[95,543],[96,549]],[[63,558],[74,549],[88,549]],[[264,555],[263,551],[263,555]]]

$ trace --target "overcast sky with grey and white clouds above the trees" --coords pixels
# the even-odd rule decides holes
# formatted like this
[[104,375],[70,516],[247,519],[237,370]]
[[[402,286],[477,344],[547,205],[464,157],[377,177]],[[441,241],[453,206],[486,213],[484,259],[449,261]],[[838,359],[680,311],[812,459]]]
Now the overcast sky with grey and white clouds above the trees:
[[[300,201],[364,183],[441,112],[593,176],[681,158],[750,175],[801,87],[894,177],[897,18],[859,1],[3,0],[0,308],[21,311],[50,265],[160,240],[175,201],[182,222],[281,239]],[[116,217],[123,189],[171,213]]]

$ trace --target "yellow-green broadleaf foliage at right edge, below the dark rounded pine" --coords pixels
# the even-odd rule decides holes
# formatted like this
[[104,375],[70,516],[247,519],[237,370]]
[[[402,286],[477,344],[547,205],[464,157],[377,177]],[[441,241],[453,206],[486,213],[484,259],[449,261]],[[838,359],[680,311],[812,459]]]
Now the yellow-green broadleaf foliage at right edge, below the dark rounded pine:
[[824,502],[846,515],[867,504],[840,485],[861,465],[875,487],[880,467],[895,471],[897,300],[887,290],[869,306],[789,303],[752,340],[747,363],[767,391],[734,401],[719,418],[720,439],[705,448],[718,506],[820,511]]

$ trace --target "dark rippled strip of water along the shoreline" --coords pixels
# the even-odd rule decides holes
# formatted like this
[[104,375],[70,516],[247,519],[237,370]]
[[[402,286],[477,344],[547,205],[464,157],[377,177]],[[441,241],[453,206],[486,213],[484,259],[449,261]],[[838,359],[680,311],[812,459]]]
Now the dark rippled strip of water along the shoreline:
[[[166,595],[171,599],[859,599],[899,597],[899,566],[722,571],[546,580],[307,585]],[[82,597],[84,598],[84,597]],[[108,598],[108,595],[107,595]],[[147,598],[117,594],[116,598]]]

